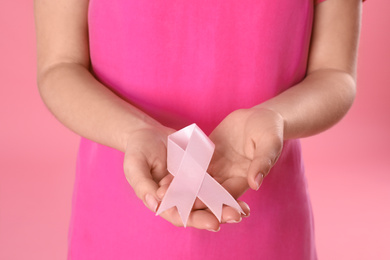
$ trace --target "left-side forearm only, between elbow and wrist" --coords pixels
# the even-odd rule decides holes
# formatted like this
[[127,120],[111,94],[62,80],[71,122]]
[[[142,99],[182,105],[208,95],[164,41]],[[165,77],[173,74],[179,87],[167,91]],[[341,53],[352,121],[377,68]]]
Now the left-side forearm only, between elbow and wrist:
[[59,63],[38,74],[38,86],[47,107],[65,126],[120,151],[131,132],[158,125],[76,63]]

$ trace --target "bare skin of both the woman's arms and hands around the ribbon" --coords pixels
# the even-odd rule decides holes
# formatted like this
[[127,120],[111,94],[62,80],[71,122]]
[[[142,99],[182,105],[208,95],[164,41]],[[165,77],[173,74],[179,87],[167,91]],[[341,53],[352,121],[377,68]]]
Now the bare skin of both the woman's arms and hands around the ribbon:
[[[166,142],[176,130],[150,118],[92,76],[87,9],[87,0],[35,0],[40,94],[65,126],[125,153],[129,184],[155,212],[172,179],[166,170]],[[248,188],[260,187],[284,140],[320,133],[351,107],[360,16],[360,0],[318,4],[306,78],[262,104],[234,111],[211,133],[216,151],[209,172],[235,198]],[[249,207],[239,203],[249,215]],[[161,217],[182,226],[175,208]],[[239,222],[241,217],[224,207],[223,223]],[[220,223],[196,201],[187,226],[217,231]]]

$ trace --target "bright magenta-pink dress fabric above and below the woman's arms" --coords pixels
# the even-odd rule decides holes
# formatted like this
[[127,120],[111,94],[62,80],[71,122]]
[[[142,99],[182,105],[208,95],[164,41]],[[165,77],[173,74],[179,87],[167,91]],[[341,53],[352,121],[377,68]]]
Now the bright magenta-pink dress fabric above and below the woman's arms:
[[[230,112],[302,81],[313,0],[90,0],[92,70],[177,130],[209,134]],[[249,218],[217,233],[178,228],[139,200],[124,154],[81,139],[69,259],[317,259],[299,140],[287,141]]]

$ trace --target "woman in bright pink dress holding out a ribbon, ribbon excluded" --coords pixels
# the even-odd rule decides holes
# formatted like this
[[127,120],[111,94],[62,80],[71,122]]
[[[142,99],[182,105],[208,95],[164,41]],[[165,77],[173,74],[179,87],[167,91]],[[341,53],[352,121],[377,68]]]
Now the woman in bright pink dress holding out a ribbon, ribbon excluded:
[[[352,105],[360,1],[36,0],[35,12],[40,93],[83,137],[70,259],[316,259],[298,138]],[[221,228],[197,201],[184,229],[176,209],[146,209],[171,180],[167,136],[191,123],[250,217],[224,207]]]

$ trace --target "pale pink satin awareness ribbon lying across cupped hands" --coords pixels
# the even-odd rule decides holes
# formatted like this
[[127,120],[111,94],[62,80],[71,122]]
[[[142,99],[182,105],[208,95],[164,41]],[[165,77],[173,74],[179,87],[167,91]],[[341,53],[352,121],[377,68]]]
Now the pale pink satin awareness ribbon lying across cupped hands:
[[206,204],[219,222],[223,204],[244,214],[229,192],[207,173],[214,148],[213,142],[196,124],[168,136],[167,166],[175,177],[156,215],[176,206],[186,226],[196,197]]

